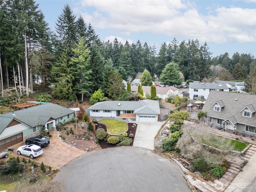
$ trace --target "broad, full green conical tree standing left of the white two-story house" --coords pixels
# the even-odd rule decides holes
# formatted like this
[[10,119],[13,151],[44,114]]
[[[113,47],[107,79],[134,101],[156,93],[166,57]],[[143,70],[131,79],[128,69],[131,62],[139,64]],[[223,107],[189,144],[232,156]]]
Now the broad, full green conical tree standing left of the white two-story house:
[[180,77],[178,64],[170,62],[166,65],[160,75],[160,82],[164,85],[181,85],[182,79]]

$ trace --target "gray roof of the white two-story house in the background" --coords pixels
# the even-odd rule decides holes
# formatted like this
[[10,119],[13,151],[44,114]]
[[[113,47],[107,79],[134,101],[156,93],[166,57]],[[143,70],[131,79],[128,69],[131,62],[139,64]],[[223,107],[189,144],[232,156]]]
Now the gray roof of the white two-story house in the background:
[[192,89],[228,89],[226,83],[204,83],[199,81],[194,81],[189,83]]

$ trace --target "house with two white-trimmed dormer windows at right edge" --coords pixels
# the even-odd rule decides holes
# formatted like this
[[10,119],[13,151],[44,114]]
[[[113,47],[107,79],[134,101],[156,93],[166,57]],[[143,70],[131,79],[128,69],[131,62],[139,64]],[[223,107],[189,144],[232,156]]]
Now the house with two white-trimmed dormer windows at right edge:
[[202,111],[208,121],[239,133],[256,133],[256,95],[211,91]]

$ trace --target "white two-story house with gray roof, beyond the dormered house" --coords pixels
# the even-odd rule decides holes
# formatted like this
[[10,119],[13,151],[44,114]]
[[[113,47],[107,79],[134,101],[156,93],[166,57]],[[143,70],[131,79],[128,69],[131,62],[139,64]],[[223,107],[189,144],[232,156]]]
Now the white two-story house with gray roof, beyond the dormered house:
[[207,99],[210,91],[216,90],[220,92],[229,92],[226,83],[204,83],[194,81],[189,83],[189,97],[190,99]]

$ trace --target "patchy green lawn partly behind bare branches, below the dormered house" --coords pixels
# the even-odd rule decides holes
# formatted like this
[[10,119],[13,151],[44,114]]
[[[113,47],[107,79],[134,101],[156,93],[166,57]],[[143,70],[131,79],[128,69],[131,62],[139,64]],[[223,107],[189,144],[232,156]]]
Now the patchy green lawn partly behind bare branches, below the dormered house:
[[[218,136],[218,138],[222,138],[222,136]],[[205,141],[204,144],[219,149],[218,146],[220,145],[220,140],[213,139],[213,140],[208,141],[208,142]],[[240,142],[240,141],[229,139],[229,138],[224,138],[224,140],[222,140],[221,145],[227,145],[227,144],[234,145],[234,150],[235,151],[242,151],[248,145],[248,143]]]

